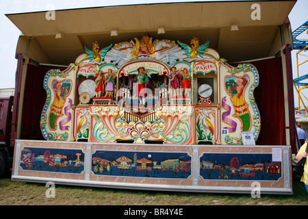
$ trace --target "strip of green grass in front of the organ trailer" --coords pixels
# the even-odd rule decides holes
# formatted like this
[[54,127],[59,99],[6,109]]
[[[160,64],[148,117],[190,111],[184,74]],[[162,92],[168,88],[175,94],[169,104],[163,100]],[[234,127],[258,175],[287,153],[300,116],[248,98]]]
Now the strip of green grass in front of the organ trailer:
[[293,195],[151,192],[55,185],[55,198],[47,198],[44,183],[0,180],[0,205],[308,205],[300,177],[293,179]]

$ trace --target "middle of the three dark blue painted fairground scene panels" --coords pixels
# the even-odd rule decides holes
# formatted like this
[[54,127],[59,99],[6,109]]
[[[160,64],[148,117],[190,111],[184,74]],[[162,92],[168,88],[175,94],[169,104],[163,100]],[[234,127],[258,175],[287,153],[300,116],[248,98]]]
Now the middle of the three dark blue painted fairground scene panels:
[[96,151],[91,170],[103,176],[188,179],[192,157],[188,153]]

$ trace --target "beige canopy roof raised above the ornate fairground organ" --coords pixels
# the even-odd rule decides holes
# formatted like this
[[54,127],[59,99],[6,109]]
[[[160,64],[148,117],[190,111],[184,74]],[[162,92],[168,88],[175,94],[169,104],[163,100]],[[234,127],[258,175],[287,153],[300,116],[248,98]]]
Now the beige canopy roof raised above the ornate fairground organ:
[[[260,20],[251,18],[253,3],[260,5]],[[145,34],[153,40],[179,40],[186,44],[193,36],[198,37],[200,44],[209,39],[209,47],[218,51],[220,57],[237,62],[274,55],[282,44],[292,42],[292,34],[283,33],[281,25],[295,3],[290,0],[120,5],[56,10],[55,20],[47,20],[46,11],[6,16],[25,35],[21,38],[34,40],[30,47],[42,49],[51,64],[75,62],[84,53],[84,45],[90,48],[94,41],[103,48],[134,37],[140,39]],[[231,25],[238,25],[239,30],[231,31]],[[158,27],[164,27],[165,34],[157,34]],[[112,29],[118,31],[118,36],[110,36]],[[55,38],[57,33],[62,33],[62,38]],[[283,34],[290,36],[283,38]],[[30,52],[25,47],[19,45],[16,53]]]

